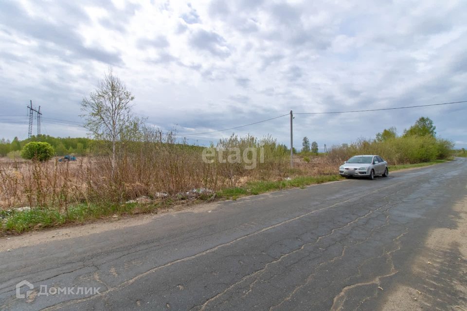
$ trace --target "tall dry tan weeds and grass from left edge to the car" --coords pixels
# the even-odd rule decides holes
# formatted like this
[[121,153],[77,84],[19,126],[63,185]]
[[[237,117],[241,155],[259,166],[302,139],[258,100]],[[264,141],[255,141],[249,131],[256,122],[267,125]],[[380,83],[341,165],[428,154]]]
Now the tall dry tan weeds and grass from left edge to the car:
[[336,163],[327,157],[311,157],[307,163],[295,156],[292,170],[287,158],[275,165],[267,163],[268,168],[258,165],[246,170],[236,163],[203,163],[199,150],[172,150],[170,156],[166,152],[162,155],[127,155],[117,166],[115,180],[104,156],[70,162],[58,162],[56,158],[48,162],[2,162],[0,207],[54,207],[61,212],[77,203],[124,202],[139,196],[155,198],[162,192],[175,195],[199,188],[222,190],[255,180],[280,181],[285,177],[336,173]]

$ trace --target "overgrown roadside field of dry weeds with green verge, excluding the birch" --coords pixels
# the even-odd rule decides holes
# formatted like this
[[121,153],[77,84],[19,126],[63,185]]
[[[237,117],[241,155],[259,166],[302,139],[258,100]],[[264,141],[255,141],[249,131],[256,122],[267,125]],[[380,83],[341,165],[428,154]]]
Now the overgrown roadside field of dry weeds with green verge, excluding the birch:
[[157,213],[199,201],[335,181],[341,179],[339,165],[355,154],[379,154],[390,168],[421,166],[451,155],[449,144],[434,138],[358,141],[327,154],[294,155],[290,168],[289,150],[270,137],[232,136],[220,140],[216,149],[206,149],[155,134],[120,144],[115,162],[105,142],[77,161],[1,158],[0,231]]

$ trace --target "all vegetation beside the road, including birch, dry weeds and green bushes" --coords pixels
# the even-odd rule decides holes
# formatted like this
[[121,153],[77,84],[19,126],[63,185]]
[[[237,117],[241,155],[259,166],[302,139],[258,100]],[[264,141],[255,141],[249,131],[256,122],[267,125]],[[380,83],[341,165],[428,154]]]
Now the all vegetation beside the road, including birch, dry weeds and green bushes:
[[[133,99],[110,70],[83,100],[91,138],[39,136],[0,142],[1,155],[15,155],[0,161],[0,233],[157,213],[336,181],[341,179],[339,165],[355,154],[381,155],[391,170],[430,165],[453,155],[452,142],[436,137],[432,121],[420,118],[401,136],[390,128],[375,139],[359,139],[328,153],[319,153],[318,143],[305,137],[293,169],[290,150],[270,136],[220,139],[210,146],[206,161],[205,147],[135,118]],[[108,116],[99,113],[103,108]],[[64,154],[82,156],[62,162],[52,157]]]

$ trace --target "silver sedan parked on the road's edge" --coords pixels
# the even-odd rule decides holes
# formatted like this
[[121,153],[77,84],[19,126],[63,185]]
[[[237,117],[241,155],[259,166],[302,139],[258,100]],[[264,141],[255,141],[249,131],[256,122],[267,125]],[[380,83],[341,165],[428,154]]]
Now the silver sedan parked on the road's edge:
[[339,167],[339,174],[344,177],[368,177],[374,179],[375,176],[389,175],[388,162],[379,155],[355,155],[344,162]]

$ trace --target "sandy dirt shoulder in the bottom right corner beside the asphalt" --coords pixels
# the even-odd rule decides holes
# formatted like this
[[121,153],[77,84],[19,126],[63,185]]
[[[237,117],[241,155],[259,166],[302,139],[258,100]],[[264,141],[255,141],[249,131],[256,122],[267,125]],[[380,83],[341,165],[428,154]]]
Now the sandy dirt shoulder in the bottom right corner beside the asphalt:
[[383,311],[467,310],[467,196],[454,211],[457,228],[431,231],[411,268],[417,281],[397,287]]

